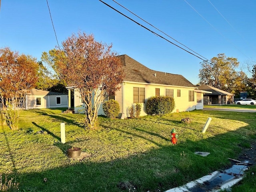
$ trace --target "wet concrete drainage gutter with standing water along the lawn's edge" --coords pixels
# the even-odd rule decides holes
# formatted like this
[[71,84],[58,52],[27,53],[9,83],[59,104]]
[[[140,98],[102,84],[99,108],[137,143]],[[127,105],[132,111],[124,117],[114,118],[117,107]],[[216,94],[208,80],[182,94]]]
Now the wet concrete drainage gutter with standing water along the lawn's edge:
[[[207,156],[209,153],[196,152],[195,154]],[[227,170],[212,172],[184,186],[172,188],[166,192],[218,192],[220,190],[228,190],[242,180],[244,171],[248,170],[247,164],[248,162],[241,162],[241,164],[233,165]]]

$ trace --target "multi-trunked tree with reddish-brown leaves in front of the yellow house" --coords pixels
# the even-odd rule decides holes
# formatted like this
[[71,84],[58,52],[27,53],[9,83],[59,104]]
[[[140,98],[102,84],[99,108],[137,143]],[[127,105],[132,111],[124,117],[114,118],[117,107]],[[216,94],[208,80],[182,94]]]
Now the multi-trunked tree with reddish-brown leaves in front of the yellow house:
[[124,78],[122,64],[112,45],[97,42],[92,34],[78,32],[62,42],[56,71],[69,86],[79,90],[85,103],[85,122],[94,127],[100,104],[113,94]]

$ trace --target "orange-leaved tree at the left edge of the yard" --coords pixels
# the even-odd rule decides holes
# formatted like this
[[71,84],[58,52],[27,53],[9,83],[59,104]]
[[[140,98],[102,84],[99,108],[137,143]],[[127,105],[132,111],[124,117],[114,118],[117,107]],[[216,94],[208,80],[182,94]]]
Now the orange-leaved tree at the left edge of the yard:
[[11,129],[18,129],[26,93],[37,81],[36,58],[0,48],[0,103]]

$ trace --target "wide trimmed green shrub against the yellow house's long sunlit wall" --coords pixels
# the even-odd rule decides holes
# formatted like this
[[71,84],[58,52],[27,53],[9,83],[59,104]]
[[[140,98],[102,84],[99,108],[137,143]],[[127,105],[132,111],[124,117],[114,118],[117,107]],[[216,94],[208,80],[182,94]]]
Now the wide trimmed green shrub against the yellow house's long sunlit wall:
[[171,113],[175,108],[174,98],[168,96],[153,96],[147,102],[147,114],[163,115]]

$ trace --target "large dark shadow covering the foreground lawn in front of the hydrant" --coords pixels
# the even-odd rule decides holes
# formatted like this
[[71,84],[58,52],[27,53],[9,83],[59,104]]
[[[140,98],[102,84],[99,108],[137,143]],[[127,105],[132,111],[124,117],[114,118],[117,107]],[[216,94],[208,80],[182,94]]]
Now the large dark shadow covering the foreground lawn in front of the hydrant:
[[[214,114],[218,115],[218,118],[225,118],[222,114]],[[232,115],[230,118],[233,118]],[[249,122],[249,124],[254,123],[255,120]],[[81,162],[71,160],[70,164],[55,169],[18,175],[20,190],[31,192],[128,192],[134,190],[133,188],[138,192],[168,190],[227,166],[229,164],[227,158],[238,156],[236,153],[241,150],[238,145],[244,142],[238,134],[248,128],[248,126],[242,127],[240,128],[242,130],[237,129],[196,142],[186,140],[177,145],[163,146],[140,135],[140,132],[146,132],[166,140],[150,131],[135,128],[138,131],[135,134],[121,128],[103,127],[142,138],[154,143],[158,148],[146,152],[131,152],[129,156],[109,161],[105,160],[104,156],[97,159],[98,153],[94,151],[92,157]],[[216,144],[218,147],[214,147]],[[194,154],[195,151],[210,152],[210,155],[198,156]],[[43,182],[43,178],[47,178],[48,181]]]

